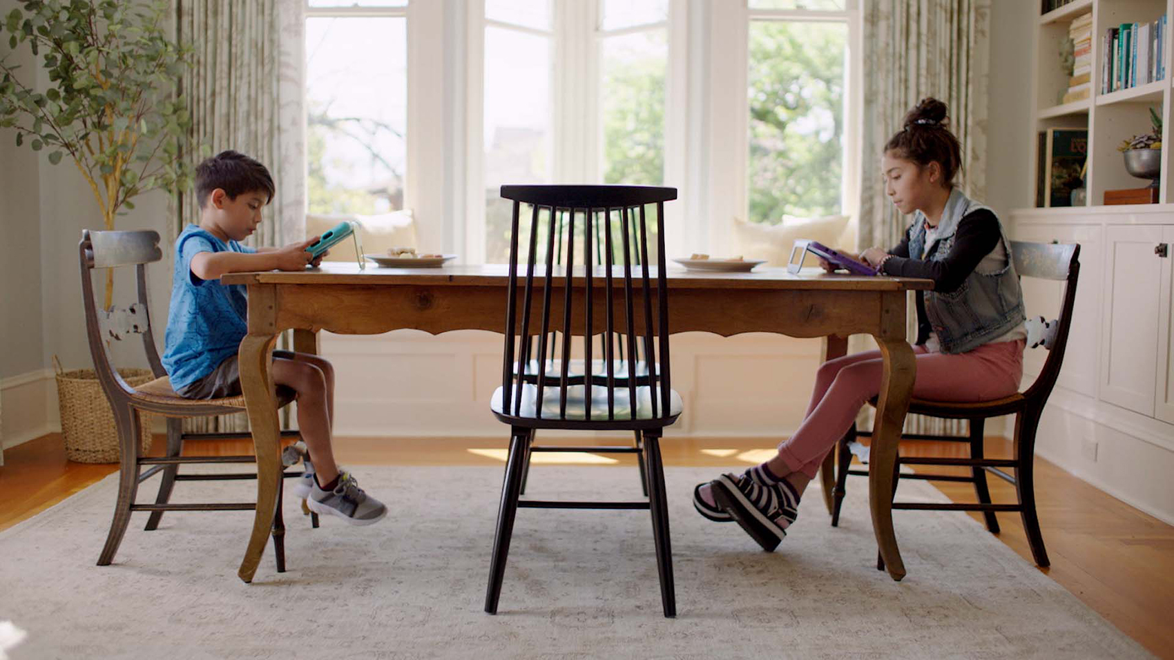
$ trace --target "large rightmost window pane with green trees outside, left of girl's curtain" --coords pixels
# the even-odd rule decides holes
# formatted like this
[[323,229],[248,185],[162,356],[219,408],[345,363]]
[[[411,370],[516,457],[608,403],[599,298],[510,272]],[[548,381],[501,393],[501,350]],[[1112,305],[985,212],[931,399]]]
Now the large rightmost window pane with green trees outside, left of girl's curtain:
[[838,214],[844,23],[750,23],[750,221]]

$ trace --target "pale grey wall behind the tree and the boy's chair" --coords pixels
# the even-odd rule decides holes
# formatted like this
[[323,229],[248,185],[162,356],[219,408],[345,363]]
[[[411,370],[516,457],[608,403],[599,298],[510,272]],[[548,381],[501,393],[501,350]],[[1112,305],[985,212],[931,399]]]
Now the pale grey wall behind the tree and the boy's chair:
[[[0,0],[0,15],[18,6],[16,0]],[[0,56],[9,53],[7,39],[2,41]],[[12,58],[25,76],[36,72],[36,85],[42,89],[47,86],[45,69],[36,66],[27,47],[18,48]],[[167,242],[166,209],[162,194],[144,195],[116,227],[155,229]],[[53,166],[46,153],[34,153],[27,141],[16,147],[14,129],[0,129],[0,231],[6,240],[0,260],[0,444],[5,447],[58,429],[54,355],[65,369],[92,366],[77,280],[77,242],[82,229],[101,225],[97,203],[68,156]],[[150,301],[163,314],[156,318],[160,329],[166,323],[169,260],[150,271]],[[101,277],[95,278],[95,285],[101,290]],[[115,304],[133,302],[133,275],[119,278],[115,291]],[[158,339],[162,342],[161,332]],[[141,345],[115,346],[114,355],[120,365],[146,366]]]

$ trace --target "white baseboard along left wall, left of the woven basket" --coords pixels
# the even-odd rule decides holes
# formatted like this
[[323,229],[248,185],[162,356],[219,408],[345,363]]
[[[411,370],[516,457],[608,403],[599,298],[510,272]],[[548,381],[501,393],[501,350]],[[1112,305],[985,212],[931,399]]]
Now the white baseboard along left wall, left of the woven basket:
[[0,445],[4,449],[61,431],[52,369],[0,378]]

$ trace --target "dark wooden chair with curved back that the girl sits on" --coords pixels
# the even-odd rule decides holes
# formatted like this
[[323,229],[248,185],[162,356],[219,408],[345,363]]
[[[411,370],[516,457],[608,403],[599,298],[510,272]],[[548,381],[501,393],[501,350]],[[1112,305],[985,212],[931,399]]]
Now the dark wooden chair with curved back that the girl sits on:
[[[893,465],[895,476],[902,479],[926,479],[935,481],[969,481],[974,484],[977,504],[936,504],[936,503],[900,503],[892,504],[893,510],[935,510],[935,511],[981,511],[986,519],[986,528],[993,533],[999,533],[999,520],[997,511],[1019,512],[1023,518],[1024,532],[1027,536],[1027,544],[1031,546],[1032,557],[1039,566],[1047,566],[1047,551],[1044,548],[1044,534],[1039,530],[1039,517],[1035,514],[1035,430],[1039,427],[1039,418],[1044,413],[1044,405],[1048,395],[1055,385],[1055,379],[1060,376],[1060,365],[1064,362],[1064,351],[1068,343],[1068,328],[1072,325],[1072,308],[1077,301],[1077,278],[1080,275],[1080,245],[1079,244],[1055,244],[1055,243],[1026,243],[1019,241],[1011,242],[1011,255],[1014,260],[1016,272],[1020,277],[1038,277],[1043,280],[1062,281],[1064,299],[1060,305],[1060,316],[1044,324],[1039,344],[1047,349],[1047,359],[1035,380],[1023,392],[1016,392],[1001,399],[987,402],[936,402],[925,399],[911,399],[909,412],[940,417],[945,419],[966,419],[970,422],[970,432],[966,436],[938,436],[931,433],[905,433],[902,439],[916,440],[946,440],[970,444],[970,458],[953,457],[897,457]],[[1034,348],[1034,345],[1032,346]],[[870,402],[876,405],[876,399]],[[1013,438],[1013,458],[986,458],[983,452],[983,429],[984,423],[990,417],[1003,415],[1016,416],[1016,431]],[[868,474],[864,470],[852,470],[851,447],[858,436],[871,436],[872,431],[857,431],[856,426],[839,439],[837,451],[837,474],[836,490],[834,491],[834,505],[831,514],[832,526],[839,524],[839,509],[844,503],[849,474]],[[897,471],[902,464],[905,465],[943,465],[943,466],[969,466],[969,477],[958,474],[929,474],[913,473],[900,474]],[[1004,469],[1013,467],[1014,474],[1007,473]],[[1016,504],[992,504],[991,492],[986,484],[986,473],[990,472],[1016,486]],[[897,479],[892,481],[893,493],[897,490]],[[877,567],[884,568],[884,563],[878,558]]]

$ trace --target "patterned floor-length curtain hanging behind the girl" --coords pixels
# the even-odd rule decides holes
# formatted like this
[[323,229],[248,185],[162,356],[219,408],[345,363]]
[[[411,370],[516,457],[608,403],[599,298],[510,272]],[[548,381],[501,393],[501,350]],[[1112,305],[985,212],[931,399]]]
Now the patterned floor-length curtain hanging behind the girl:
[[[986,195],[986,105],[990,0],[865,0],[864,134],[857,248],[896,245],[910,218],[884,195],[880,155],[918,101],[933,96],[950,108],[962,143],[957,181],[966,196]],[[913,305],[909,326],[916,335]],[[909,416],[908,432],[960,433],[965,423]]]

